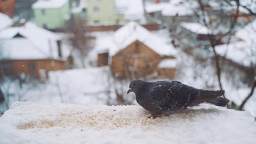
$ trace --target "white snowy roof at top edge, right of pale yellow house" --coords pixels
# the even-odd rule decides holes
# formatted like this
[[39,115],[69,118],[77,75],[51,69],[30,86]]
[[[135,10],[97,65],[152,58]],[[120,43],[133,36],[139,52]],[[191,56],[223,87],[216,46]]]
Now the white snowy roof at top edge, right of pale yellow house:
[[142,0],[115,0],[115,11],[122,13],[125,20],[135,21],[144,19]]

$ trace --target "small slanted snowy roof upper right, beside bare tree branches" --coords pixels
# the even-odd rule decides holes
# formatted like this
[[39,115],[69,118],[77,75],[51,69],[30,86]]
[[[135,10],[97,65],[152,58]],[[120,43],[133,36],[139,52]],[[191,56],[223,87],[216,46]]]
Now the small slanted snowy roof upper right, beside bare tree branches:
[[181,27],[194,32],[196,34],[204,34],[207,35],[208,33],[211,34],[211,30],[205,27],[202,24],[196,22],[181,22]]

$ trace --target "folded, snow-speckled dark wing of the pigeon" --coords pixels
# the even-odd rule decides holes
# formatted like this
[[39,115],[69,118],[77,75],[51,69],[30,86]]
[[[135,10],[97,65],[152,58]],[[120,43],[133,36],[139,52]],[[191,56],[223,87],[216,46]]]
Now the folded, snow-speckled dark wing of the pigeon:
[[163,109],[179,110],[195,101],[198,93],[196,88],[172,81],[169,85],[153,87],[149,100]]

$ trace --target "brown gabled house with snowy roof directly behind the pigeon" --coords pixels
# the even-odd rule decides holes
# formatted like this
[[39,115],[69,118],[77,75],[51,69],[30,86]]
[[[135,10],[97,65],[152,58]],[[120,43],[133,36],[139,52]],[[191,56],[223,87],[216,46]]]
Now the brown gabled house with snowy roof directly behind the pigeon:
[[[115,77],[152,74],[171,79],[175,77],[177,51],[165,38],[152,34],[136,22],[129,22],[114,33],[113,39],[113,45],[98,54],[98,64],[111,63]],[[108,61],[109,57],[111,61]],[[171,64],[168,61],[172,61]]]

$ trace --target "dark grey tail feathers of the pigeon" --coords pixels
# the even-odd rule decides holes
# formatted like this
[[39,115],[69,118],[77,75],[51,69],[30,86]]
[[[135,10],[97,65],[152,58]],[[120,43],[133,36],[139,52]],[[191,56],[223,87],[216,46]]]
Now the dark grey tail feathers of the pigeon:
[[225,93],[224,90],[218,90],[218,91],[199,90],[199,95],[197,99],[195,99],[195,101],[193,101],[192,104],[190,105],[195,106],[205,102],[208,104],[225,107],[229,102],[229,100],[220,97],[220,96],[223,96],[224,93]]

